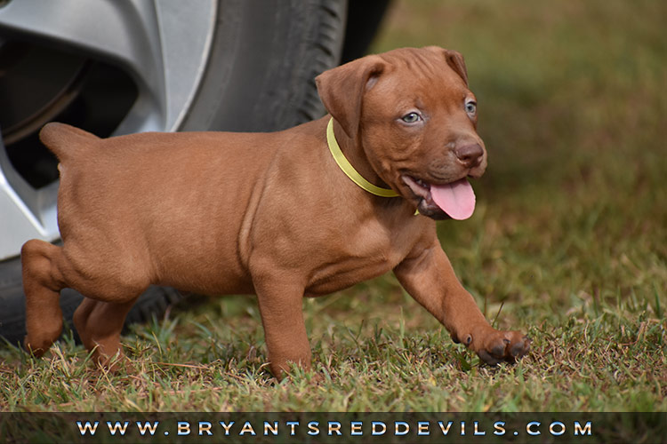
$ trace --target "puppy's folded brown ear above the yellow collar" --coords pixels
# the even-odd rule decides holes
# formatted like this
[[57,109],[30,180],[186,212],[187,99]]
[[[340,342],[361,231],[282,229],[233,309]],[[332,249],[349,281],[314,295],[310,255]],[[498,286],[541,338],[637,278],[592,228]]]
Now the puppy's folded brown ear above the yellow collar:
[[370,55],[317,75],[317,92],[326,110],[352,139],[359,131],[361,101],[382,74],[385,62]]

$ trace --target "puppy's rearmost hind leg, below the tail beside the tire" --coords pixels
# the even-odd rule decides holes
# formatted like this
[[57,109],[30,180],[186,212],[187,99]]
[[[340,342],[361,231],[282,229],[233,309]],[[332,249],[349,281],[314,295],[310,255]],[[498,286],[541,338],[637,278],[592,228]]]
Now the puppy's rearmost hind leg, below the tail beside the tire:
[[60,289],[65,288],[59,266],[62,250],[51,243],[32,240],[23,244],[20,258],[28,331],[24,345],[41,356],[62,331]]

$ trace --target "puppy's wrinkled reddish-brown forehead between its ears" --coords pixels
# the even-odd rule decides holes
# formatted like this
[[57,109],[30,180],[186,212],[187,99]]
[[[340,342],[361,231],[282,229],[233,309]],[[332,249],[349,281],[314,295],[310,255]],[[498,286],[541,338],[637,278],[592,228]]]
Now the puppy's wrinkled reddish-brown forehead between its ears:
[[[447,64],[442,53],[400,49],[381,56],[387,67],[369,91],[369,96],[397,98],[399,102],[405,102],[405,106],[422,102],[426,107],[459,101],[470,95],[463,79]],[[401,103],[397,105],[400,107]]]

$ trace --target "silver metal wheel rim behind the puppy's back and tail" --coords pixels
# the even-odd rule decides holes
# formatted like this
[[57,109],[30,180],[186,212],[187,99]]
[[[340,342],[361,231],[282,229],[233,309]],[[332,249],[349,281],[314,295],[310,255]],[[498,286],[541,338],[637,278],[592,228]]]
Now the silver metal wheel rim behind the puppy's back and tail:
[[[0,39],[57,45],[129,74],[138,96],[114,134],[176,131],[204,74],[216,7],[214,0],[5,0]],[[17,256],[28,239],[58,240],[57,189],[57,182],[30,186],[0,138],[0,260]]]

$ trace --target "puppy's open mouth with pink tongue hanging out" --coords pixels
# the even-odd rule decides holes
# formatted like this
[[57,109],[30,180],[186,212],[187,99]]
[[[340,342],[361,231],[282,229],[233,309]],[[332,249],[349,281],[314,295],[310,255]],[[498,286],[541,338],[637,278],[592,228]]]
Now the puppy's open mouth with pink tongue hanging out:
[[441,213],[456,220],[470,218],[475,211],[475,192],[467,178],[447,184],[431,184],[421,178],[403,176],[403,181],[420,201],[420,213],[431,218],[442,218]]

